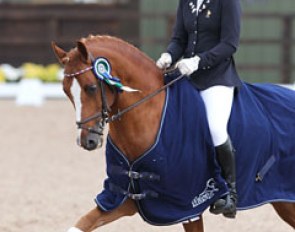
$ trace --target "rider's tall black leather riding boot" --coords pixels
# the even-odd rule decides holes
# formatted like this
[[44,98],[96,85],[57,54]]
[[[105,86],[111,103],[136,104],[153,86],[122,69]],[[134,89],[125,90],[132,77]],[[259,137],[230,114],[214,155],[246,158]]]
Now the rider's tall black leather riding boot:
[[229,187],[229,194],[218,199],[211,205],[210,212],[213,214],[222,213],[225,217],[235,218],[237,213],[236,165],[235,153],[231,140],[228,139],[224,144],[215,147],[215,149],[222,176]]

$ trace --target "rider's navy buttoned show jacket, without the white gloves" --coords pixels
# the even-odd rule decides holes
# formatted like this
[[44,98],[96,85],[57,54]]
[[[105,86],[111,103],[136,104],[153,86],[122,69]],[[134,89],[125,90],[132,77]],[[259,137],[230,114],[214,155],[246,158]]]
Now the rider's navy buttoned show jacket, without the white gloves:
[[[200,0],[199,0],[200,1]],[[240,0],[180,0],[173,36],[167,52],[173,63],[198,55],[199,70],[191,75],[204,90],[214,85],[240,86],[233,54],[240,37]]]

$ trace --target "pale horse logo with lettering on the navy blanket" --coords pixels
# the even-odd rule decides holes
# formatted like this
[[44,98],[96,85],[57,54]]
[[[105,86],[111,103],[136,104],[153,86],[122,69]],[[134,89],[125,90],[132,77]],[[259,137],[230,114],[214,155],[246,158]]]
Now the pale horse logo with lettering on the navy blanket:
[[213,198],[215,195],[215,192],[218,192],[218,191],[219,189],[216,187],[215,180],[213,178],[209,179],[206,183],[206,187],[204,191],[192,200],[193,208],[196,208],[197,206]]

